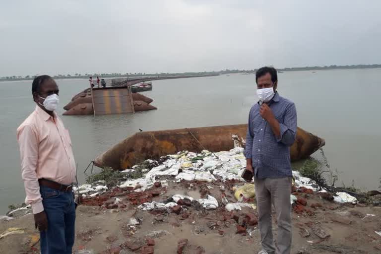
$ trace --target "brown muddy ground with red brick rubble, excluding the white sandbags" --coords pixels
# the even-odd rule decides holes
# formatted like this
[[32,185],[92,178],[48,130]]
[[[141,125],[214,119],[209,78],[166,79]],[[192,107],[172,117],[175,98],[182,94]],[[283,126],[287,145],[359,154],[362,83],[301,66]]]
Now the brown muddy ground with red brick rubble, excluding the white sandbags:
[[[228,212],[223,198],[237,202],[233,185],[244,183],[169,182],[169,186],[135,192],[115,188],[84,199],[77,208],[74,253],[93,254],[239,254],[260,251],[256,211],[245,207]],[[381,253],[381,207],[338,204],[317,192],[294,189],[298,197],[292,212],[293,254]],[[138,205],[171,201],[174,194],[195,199],[214,196],[219,207],[205,210],[199,204],[179,201],[167,210],[143,211]],[[118,202],[116,203],[116,199]],[[253,200],[246,200],[251,202]],[[274,216],[273,216],[274,218]],[[39,253],[38,232],[31,214],[0,222],[0,233],[10,227],[25,228],[24,234],[0,239],[1,254]],[[273,222],[276,238],[276,222]]]

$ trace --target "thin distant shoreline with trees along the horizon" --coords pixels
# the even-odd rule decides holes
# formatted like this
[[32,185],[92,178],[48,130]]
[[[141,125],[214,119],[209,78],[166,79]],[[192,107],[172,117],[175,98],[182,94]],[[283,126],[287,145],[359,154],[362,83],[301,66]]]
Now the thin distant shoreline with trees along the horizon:
[[[331,70],[331,69],[369,69],[369,68],[381,68],[381,64],[357,64],[357,65],[329,65],[329,66],[306,66],[306,67],[291,67],[291,68],[278,68],[279,72],[284,71],[303,71],[303,70]],[[94,73],[85,75],[75,74],[75,75],[55,75],[55,79],[87,79],[89,76],[101,78],[121,78],[121,77],[163,77],[163,76],[213,76],[222,74],[232,74],[232,73],[255,73],[257,69],[252,70],[239,70],[239,69],[226,69],[221,71],[204,71],[204,72],[183,72],[183,73]],[[21,76],[4,76],[0,77],[1,81],[24,81],[33,80],[35,76],[27,75],[25,77]],[[93,78],[96,81],[96,78]]]

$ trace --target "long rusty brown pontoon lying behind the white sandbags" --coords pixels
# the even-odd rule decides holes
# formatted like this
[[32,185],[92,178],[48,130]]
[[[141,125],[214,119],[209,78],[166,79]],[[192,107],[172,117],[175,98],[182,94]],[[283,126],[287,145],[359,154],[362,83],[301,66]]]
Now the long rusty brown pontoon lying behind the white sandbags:
[[[115,144],[99,155],[94,164],[101,168],[124,170],[144,160],[159,159],[184,150],[228,151],[237,143],[244,146],[246,132],[247,125],[142,131]],[[291,161],[308,158],[324,144],[324,139],[298,127],[295,142],[290,148]]]

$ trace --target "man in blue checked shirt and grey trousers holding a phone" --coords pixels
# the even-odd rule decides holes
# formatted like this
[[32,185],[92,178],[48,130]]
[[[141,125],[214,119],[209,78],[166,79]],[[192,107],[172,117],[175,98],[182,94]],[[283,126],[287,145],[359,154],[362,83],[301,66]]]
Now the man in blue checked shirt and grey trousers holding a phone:
[[[259,101],[249,114],[246,137],[247,170],[254,175],[262,251],[258,254],[289,254],[291,250],[291,161],[295,141],[295,104],[279,95],[277,71],[262,67],[255,74]],[[278,224],[277,247],[272,238],[271,204]]]

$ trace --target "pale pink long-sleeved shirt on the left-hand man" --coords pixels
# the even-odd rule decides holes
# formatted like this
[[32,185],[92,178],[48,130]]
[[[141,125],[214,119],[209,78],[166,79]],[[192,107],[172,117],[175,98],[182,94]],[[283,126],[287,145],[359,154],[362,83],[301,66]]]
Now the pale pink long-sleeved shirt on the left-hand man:
[[25,203],[33,213],[44,210],[38,179],[69,185],[75,181],[75,161],[69,132],[54,112],[54,119],[39,106],[17,128]]

